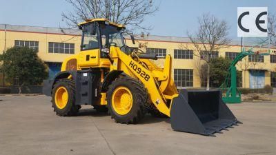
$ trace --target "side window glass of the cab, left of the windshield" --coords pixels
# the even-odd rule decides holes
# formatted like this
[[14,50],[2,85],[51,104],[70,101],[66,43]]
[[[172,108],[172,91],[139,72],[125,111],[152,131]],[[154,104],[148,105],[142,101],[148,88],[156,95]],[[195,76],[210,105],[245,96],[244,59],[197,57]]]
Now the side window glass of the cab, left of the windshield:
[[83,26],[81,50],[99,49],[98,32],[96,31],[95,35],[91,34],[91,29],[93,28],[91,24],[92,23]]

